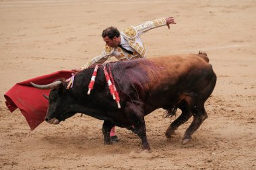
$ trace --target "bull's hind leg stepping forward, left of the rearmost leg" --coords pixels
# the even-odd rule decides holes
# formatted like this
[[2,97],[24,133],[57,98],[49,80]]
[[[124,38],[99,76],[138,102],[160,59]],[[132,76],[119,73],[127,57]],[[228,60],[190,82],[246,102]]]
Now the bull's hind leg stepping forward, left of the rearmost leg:
[[181,124],[184,124],[185,122],[187,122],[187,120],[189,120],[189,118],[191,118],[192,116],[192,114],[189,112],[187,103],[183,102],[181,105],[179,105],[179,108],[182,111],[181,115],[179,116],[179,118],[174,120],[166,130],[166,133],[165,133],[166,138],[170,138],[172,134],[174,134],[174,131],[177,130],[177,128],[181,126]]

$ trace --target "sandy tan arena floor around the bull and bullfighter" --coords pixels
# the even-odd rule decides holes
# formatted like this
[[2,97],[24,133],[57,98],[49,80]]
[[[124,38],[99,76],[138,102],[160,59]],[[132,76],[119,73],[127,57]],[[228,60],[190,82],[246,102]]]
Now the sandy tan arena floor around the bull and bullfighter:
[[[31,131],[3,94],[15,83],[82,67],[100,54],[102,30],[173,16],[177,25],[141,38],[147,57],[207,52],[218,75],[208,118],[187,145],[191,120],[167,140],[163,110],[146,117],[151,153],[117,128],[103,144],[102,121],[79,114]],[[0,169],[256,169],[256,1],[1,0]],[[113,59],[114,60],[114,59]]]

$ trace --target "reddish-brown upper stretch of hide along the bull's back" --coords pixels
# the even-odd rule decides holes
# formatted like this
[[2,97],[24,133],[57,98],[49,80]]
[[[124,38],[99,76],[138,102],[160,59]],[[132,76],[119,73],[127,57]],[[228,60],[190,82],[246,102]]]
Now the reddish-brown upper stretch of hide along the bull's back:
[[211,72],[212,67],[196,54],[141,58],[131,60],[125,65],[127,77],[137,77],[143,85],[158,87],[162,83],[175,84],[187,75],[194,77],[203,72]]

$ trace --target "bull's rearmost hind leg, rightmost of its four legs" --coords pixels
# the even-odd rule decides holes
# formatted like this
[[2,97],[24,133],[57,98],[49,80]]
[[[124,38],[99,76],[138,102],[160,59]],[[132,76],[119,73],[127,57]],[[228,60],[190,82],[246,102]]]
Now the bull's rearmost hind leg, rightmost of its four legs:
[[197,101],[188,103],[189,110],[191,114],[193,114],[193,122],[187,128],[184,136],[183,136],[183,144],[187,144],[191,140],[191,135],[199,128],[199,126],[203,123],[203,120],[207,118],[207,113],[204,108],[204,100],[198,99]]

